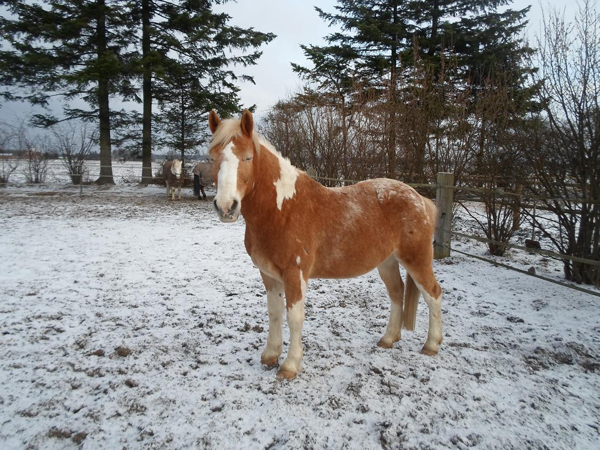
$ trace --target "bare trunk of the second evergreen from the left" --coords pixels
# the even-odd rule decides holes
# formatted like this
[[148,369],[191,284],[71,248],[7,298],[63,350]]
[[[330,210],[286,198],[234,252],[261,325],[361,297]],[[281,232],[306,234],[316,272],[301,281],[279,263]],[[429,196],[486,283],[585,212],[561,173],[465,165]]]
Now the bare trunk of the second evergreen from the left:
[[150,5],[142,0],[142,183],[152,181],[152,68],[150,67]]

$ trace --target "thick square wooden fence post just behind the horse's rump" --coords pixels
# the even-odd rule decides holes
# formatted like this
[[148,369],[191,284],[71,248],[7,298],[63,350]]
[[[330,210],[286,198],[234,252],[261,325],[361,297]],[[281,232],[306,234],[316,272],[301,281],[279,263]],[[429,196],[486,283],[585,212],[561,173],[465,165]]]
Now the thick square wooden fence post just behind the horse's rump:
[[438,172],[436,186],[437,221],[433,239],[434,259],[450,256],[453,201],[454,173]]

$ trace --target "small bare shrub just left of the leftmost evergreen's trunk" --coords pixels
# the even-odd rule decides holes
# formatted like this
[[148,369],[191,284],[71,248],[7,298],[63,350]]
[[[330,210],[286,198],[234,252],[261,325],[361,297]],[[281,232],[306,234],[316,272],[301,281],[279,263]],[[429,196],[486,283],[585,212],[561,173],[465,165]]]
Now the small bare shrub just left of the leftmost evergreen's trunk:
[[85,161],[98,138],[98,131],[90,131],[87,124],[65,124],[52,128],[58,154],[73,184],[81,184]]

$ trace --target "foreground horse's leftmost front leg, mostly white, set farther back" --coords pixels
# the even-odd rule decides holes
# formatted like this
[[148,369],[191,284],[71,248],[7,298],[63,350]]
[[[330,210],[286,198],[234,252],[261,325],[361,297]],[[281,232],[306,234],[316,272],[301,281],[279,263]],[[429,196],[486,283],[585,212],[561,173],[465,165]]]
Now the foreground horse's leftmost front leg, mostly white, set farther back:
[[269,337],[266,340],[265,351],[260,355],[260,362],[269,367],[277,364],[281,355],[281,320],[285,308],[283,300],[283,283],[260,272],[266,289],[266,307],[269,313]]

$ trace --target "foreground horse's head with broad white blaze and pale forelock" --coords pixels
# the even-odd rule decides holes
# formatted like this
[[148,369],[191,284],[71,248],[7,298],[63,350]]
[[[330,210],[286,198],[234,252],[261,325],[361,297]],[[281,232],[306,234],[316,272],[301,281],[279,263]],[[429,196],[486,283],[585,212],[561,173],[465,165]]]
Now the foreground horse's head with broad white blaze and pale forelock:
[[241,119],[221,121],[217,113],[208,115],[212,141],[209,153],[217,195],[212,204],[223,222],[238,220],[242,200],[254,183],[254,161],[260,151],[254,119],[247,109]]

